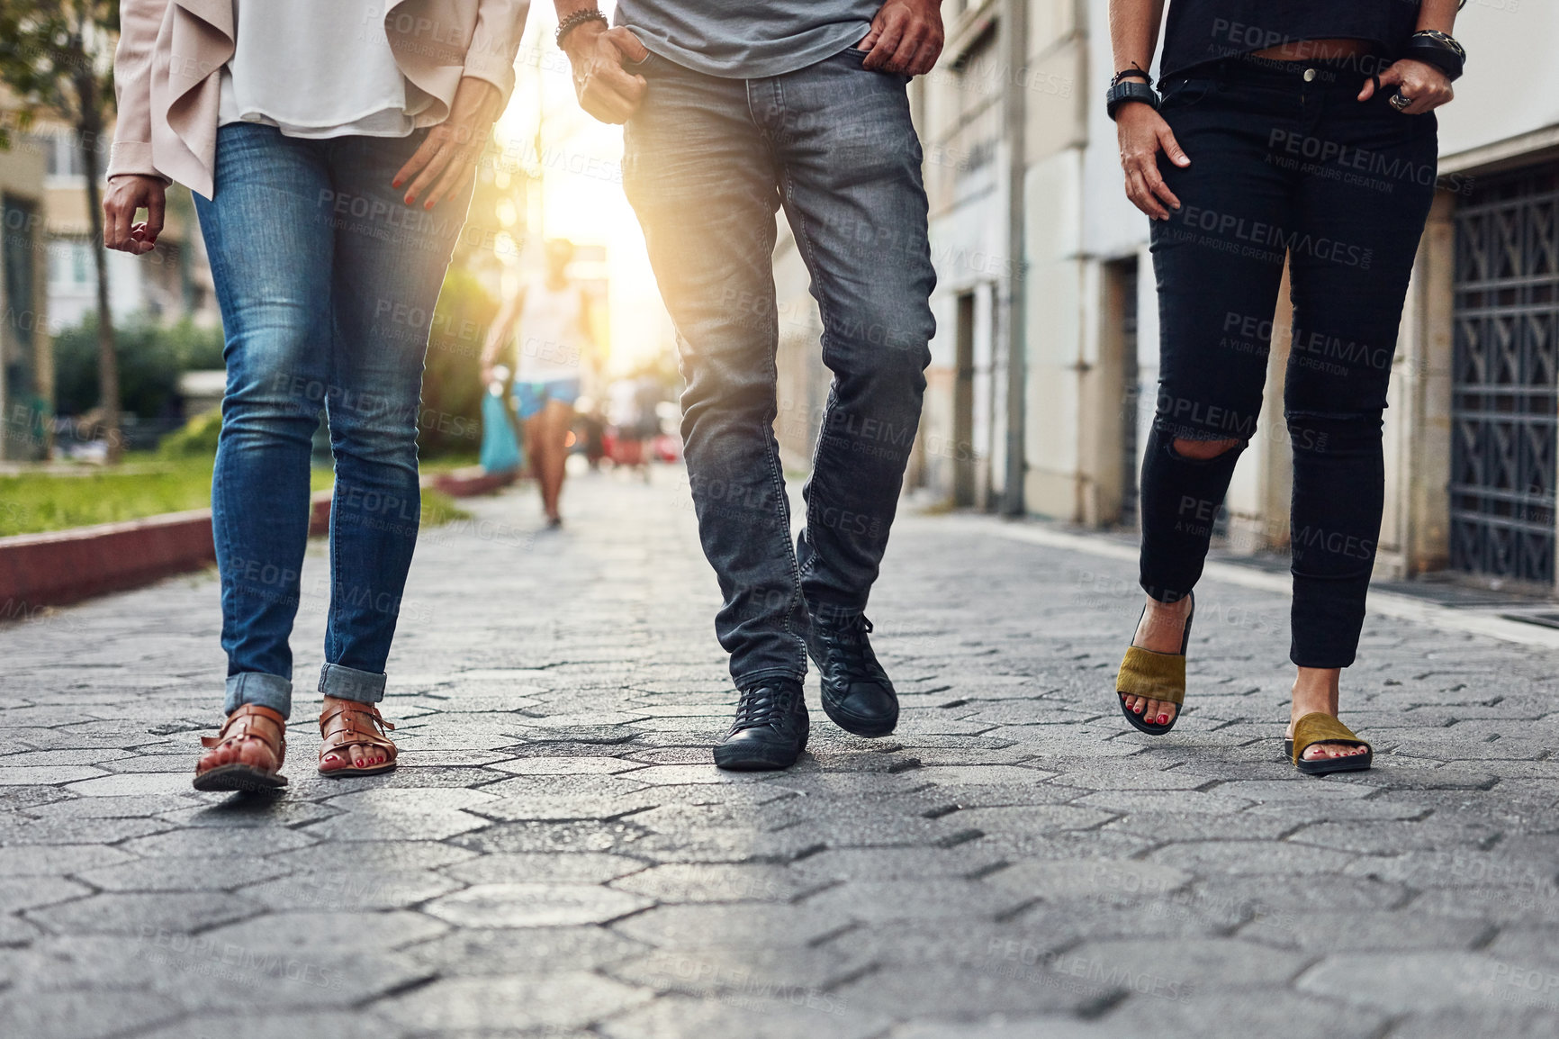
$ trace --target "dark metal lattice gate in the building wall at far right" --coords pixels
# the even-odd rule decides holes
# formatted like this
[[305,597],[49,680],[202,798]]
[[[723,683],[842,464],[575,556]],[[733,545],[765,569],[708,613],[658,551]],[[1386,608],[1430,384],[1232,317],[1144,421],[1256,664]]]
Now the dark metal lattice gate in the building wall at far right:
[[1559,167],[1458,211],[1453,320],[1451,566],[1553,583]]

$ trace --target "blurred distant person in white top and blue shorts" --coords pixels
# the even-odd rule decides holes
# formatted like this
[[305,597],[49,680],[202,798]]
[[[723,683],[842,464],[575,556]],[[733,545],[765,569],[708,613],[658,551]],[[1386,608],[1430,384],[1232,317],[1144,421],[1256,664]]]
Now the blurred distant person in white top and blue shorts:
[[574,243],[547,242],[547,273],[504,301],[482,351],[482,381],[505,348],[514,359],[514,410],[525,427],[525,456],[541,487],[547,526],[563,526],[558,499],[569,459],[574,402],[592,357],[589,296],[569,278]]

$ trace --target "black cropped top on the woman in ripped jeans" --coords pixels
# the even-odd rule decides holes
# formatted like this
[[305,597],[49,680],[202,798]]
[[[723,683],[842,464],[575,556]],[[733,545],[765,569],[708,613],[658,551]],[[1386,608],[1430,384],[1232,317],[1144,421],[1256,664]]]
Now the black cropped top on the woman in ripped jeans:
[[1158,76],[1303,39],[1367,39],[1394,56],[1417,25],[1419,0],[1169,0]]

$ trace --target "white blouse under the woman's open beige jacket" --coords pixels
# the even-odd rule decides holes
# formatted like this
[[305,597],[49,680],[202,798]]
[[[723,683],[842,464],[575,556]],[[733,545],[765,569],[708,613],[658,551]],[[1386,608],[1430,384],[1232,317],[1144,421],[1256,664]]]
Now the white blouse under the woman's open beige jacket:
[[237,39],[221,70],[220,126],[267,123],[288,137],[404,137],[429,103],[407,103],[384,0],[232,0],[232,17]]

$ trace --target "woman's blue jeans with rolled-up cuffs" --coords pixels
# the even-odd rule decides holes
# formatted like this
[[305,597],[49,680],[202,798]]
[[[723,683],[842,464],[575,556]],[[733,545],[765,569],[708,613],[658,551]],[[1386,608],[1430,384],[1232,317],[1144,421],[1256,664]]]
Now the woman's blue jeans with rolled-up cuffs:
[[195,198],[226,331],[210,499],[229,713],[292,708],[287,640],[321,410],[335,501],[320,691],[384,699],[421,516],[422,359],[469,203],[468,187],[427,212],[390,186],[422,137],[304,140],[228,125],[214,197]]

